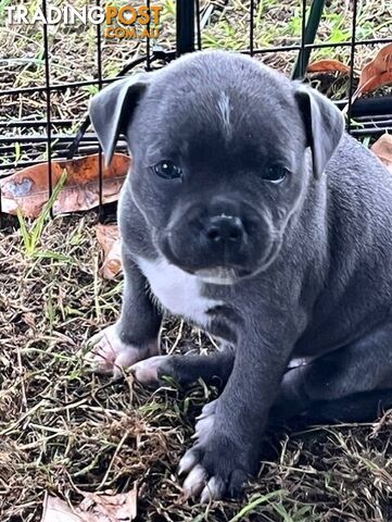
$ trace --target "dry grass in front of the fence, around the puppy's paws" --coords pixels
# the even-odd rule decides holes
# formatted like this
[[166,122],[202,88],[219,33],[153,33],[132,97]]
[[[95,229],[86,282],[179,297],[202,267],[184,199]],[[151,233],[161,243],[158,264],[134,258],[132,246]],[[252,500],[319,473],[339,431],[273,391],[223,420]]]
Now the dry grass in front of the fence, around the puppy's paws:
[[[389,521],[392,415],[270,434],[241,502],[182,498],[176,467],[215,391],[167,383],[151,393],[130,376],[112,382],[84,369],[80,348],[114,321],[122,290],[121,277],[98,274],[97,221],[93,212],[56,216],[41,232],[41,250],[77,263],[27,257],[15,220],[0,235],[0,520],[39,521],[46,492],[77,504],[80,492],[137,482],[141,521]],[[173,320],[162,345],[211,348]]]

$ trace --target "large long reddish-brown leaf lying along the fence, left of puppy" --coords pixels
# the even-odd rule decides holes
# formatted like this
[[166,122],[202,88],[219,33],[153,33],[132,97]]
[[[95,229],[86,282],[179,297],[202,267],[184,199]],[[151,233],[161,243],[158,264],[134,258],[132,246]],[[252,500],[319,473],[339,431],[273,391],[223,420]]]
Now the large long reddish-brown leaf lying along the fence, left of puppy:
[[[127,175],[130,158],[116,153],[109,167],[103,166],[102,202],[118,199],[118,192]],[[52,161],[52,185],[58,184],[63,171],[67,177],[53,213],[89,210],[99,204],[99,154],[86,156],[69,161]],[[3,212],[16,214],[20,208],[26,217],[37,217],[49,200],[49,164],[28,166],[0,179],[1,208]]]

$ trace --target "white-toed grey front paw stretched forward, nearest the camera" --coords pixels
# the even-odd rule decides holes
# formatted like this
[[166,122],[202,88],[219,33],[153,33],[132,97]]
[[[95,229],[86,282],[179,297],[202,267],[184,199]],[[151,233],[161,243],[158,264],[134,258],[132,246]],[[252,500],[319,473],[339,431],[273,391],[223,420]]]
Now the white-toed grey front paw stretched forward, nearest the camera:
[[187,497],[200,497],[202,504],[224,496],[240,496],[243,483],[254,472],[255,462],[250,462],[241,440],[229,438],[224,430],[216,427],[218,400],[203,408],[193,436],[197,443],[178,468],[180,475],[187,474],[184,493]]

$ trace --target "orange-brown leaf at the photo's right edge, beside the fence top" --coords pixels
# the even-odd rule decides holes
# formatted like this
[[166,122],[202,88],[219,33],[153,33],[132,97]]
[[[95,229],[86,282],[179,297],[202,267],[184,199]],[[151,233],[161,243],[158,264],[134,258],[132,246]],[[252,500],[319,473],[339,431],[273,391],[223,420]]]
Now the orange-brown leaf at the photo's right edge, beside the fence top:
[[353,98],[392,84],[392,44],[381,47],[376,57],[362,70],[359,84]]

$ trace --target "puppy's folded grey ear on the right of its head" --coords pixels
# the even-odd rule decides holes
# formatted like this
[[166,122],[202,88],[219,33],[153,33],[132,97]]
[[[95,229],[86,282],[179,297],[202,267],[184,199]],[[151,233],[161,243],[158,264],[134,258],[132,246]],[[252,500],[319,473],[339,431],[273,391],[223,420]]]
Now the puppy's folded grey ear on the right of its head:
[[344,120],[339,109],[315,89],[301,85],[294,96],[305,125],[307,147],[312,149],[313,173],[318,179],[343,135]]

